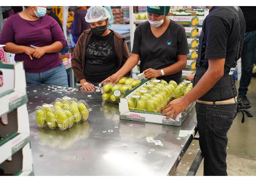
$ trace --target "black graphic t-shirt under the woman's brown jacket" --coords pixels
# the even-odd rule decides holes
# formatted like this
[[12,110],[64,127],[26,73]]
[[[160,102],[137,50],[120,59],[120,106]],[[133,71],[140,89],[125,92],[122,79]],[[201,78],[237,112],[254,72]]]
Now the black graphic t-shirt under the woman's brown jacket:
[[106,36],[92,34],[85,52],[84,76],[87,81],[99,83],[116,73],[114,33]]

